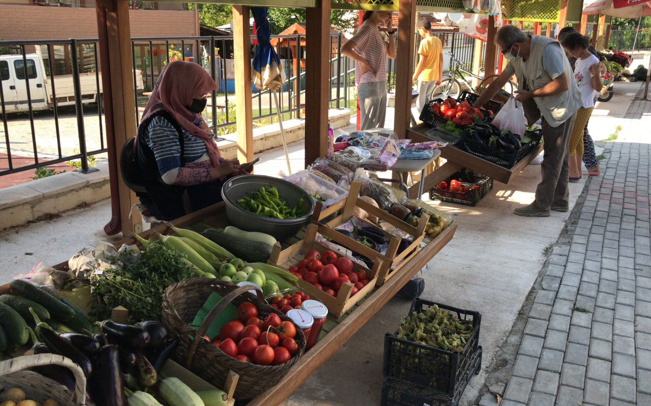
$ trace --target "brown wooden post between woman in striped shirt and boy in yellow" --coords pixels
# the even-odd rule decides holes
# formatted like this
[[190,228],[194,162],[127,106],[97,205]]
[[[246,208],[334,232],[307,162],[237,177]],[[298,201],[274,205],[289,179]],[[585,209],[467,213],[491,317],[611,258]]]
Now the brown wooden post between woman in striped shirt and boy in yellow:
[[405,138],[411,125],[411,77],[416,32],[416,2],[400,0],[398,5],[398,42],[396,44],[396,99],[393,129]]

